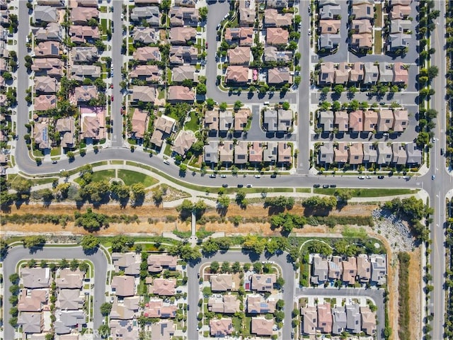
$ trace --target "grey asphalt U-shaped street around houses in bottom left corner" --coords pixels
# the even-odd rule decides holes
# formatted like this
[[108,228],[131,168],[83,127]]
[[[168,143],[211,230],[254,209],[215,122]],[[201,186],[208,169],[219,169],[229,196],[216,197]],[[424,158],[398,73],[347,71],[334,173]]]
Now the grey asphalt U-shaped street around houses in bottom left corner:
[[[62,256],[64,255],[64,256]],[[16,265],[19,261],[28,259],[86,259],[93,262],[95,270],[95,285],[93,297],[93,329],[98,329],[101,326],[103,317],[101,314],[101,305],[105,302],[105,278],[108,267],[107,259],[103,251],[98,250],[95,254],[86,255],[81,246],[74,247],[45,247],[37,251],[31,252],[30,249],[23,248],[22,246],[15,246],[9,249],[6,258],[3,261],[4,270],[4,316],[3,319],[8,319],[8,311],[11,310],[11,303],[9,303],[9,287],[11,282],[9,276],[16,273]],[[4,322],[4,339],[15,339],[14,329],[8,322]]]

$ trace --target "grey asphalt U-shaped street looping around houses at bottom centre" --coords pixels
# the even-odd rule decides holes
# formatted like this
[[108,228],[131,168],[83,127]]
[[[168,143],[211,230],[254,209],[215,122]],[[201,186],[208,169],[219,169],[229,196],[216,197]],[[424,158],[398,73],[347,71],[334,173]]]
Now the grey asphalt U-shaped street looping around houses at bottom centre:
[[294,297],[294,268],[292,263],[288,261],[287,254],[283,253],[280,255],[274,255],[270,257],[265,257],[260,255],[259,257],[253,252],[247,251],[225,251],[219,252],[214,256],[209,258],[203,257],[201,261],[197,262],[193,266],[188,266],[188,305],[190,310],[188,311],[188,339],[198,339],[197,331],[197,304],[200,300],[200,286],[198,285],[197,273],[200,272],[200,266],[202,263],[218,261],[222,263],[223,261],[229,262],[256,262],[256,261],[275,261],[277,265],[282,268],[283,279],[285,280],[285,293],[283,293],[283,300],[285,300],[285,324],[283,325],[282,339],[291,339],[291,312],[293,306],[293,297]]

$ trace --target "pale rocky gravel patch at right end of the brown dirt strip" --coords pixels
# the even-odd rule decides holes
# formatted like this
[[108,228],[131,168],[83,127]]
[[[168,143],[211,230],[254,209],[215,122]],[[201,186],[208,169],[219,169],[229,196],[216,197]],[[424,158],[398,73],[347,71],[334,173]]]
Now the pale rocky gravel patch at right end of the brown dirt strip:
[[389,210],[376,209],[372,211],[374,230],[387,239],[393,252],[413,251],[415,239],[407,222],[400,220]]

